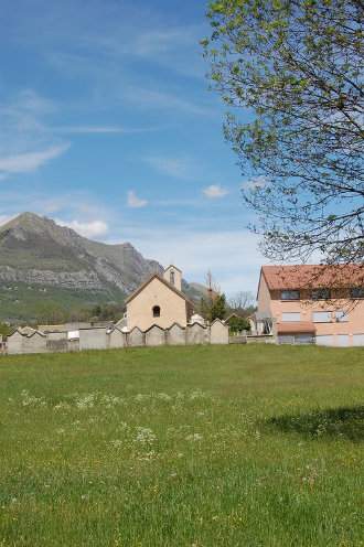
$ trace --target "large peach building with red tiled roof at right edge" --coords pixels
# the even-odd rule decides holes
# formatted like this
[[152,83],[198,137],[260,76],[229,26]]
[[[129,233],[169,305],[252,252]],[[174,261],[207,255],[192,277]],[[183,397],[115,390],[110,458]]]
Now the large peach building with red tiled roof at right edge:
[[280,343],[364,345],[364,266],[263,266],[258,312],[277,321]]

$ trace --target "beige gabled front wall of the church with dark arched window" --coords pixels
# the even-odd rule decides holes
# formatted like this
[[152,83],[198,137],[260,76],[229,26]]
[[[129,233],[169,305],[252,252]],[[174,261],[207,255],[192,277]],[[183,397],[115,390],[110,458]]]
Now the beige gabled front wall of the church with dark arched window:
[[[159,305],[160,318],[153,318],[153,307]],[[138,326],[147,331],[153,324],[163,329],[171,326],[175,321],[186,324],[186,305],[184,298],[154,278],[144,289],[127,304],[129,331]]]

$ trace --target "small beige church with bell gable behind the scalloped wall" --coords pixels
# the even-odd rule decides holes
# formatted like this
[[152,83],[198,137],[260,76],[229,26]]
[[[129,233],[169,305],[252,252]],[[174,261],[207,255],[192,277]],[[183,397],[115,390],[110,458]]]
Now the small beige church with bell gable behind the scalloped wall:
[[182,271],[171,265],[163,277],[153,274],[127,300],[127,323],[131,331],[147,331],[153,324],[168,329],[173,323],[186,326],[196,304],[182,292]]

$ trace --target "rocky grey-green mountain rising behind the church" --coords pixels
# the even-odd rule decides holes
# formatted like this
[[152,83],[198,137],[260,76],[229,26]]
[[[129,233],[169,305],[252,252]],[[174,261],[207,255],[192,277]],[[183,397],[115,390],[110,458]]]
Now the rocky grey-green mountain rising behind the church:
[[[163,272],[130,243],[106,245],[23,213],[0,226],[0,320],[29,319],[40,300],[65,308],[122,302],[152,274]],[[190,298],[199,292],[186,282]]]

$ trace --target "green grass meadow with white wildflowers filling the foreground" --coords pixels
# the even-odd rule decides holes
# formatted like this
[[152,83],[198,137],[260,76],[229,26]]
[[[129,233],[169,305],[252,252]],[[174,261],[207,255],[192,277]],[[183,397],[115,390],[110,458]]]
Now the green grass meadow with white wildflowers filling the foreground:
[[364,348],[0,357],[0,546],[358,547]]

